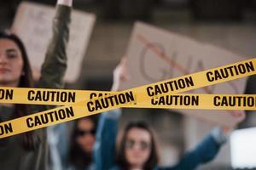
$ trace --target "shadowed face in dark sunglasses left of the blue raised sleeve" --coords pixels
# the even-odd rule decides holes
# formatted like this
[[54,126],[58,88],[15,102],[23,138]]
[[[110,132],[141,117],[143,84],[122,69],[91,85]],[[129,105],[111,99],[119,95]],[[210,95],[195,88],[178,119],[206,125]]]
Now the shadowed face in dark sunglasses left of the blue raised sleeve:
[[77,143],[86,153],[90,153],[95,142],[95,124],[90,119],[81,119],[78,123]]

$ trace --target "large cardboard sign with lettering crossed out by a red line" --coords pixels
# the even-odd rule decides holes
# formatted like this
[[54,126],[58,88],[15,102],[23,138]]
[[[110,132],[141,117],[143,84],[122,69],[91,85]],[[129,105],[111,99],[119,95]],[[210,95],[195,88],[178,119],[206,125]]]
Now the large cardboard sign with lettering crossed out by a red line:
[[[137,22],[126,52],[127,72],[131,79],[121,89],[203,71],[245,59],[223,48],[196,42],[172,32]],[[243,94],[246,78],[199,88],[188,93]],[[218,125],[234,126],[238,122],[232,111],[180,110],[188,116]]]

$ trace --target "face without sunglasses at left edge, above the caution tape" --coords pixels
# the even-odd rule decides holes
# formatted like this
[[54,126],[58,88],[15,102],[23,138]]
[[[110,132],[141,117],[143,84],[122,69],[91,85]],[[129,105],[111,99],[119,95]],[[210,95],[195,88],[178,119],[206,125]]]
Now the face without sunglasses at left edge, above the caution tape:
[[0,38],[0,86],[18,87],[23,65],[20,48],[16,43]]

